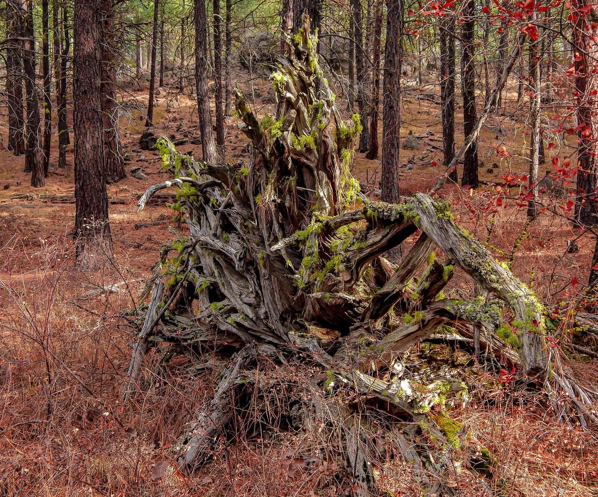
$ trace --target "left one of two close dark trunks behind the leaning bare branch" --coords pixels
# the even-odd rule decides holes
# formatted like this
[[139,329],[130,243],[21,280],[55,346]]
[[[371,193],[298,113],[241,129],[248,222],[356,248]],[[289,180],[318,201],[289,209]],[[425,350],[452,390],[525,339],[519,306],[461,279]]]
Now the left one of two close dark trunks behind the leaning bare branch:
[[[454,157],[454,16],[450,15],[440,23],[440,109],[443,118],[444,166]],[[457,167],[449,173],[449,179],[457,182]]]

